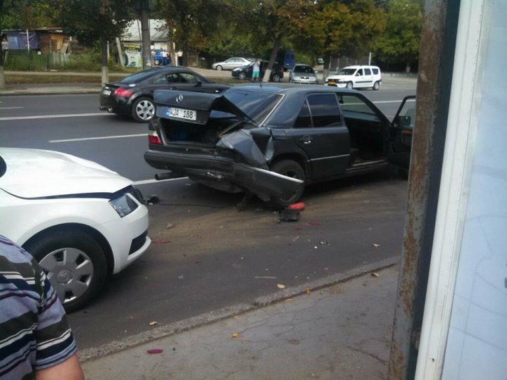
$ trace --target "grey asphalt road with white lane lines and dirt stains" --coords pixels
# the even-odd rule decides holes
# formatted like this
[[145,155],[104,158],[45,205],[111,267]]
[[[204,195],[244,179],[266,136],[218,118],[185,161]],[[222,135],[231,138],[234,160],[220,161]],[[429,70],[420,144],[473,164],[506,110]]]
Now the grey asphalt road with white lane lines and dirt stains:
[[[413,89],[365,91],[393,116]],[[151,206],[146,255],[115,276],[92,305],[69,315],[80,348],[89,348],[399,255],[406,182],[377,173],[311,186],[299,222],[254,201],[188,179],[153,183],[143,160],[146,125],[98,111],[97,95],[0,97],[1,146],[71,153],[138,183]],[[167,228],[168,224],[174,227]],[[373,244],[380,244],[374,247]]]

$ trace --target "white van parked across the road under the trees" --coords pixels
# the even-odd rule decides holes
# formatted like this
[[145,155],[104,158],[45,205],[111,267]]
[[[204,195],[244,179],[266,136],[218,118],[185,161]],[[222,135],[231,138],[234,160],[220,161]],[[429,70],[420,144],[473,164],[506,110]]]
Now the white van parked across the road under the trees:
[[368,87],[377,90],[380,89],[380,84],[382,84],[380,68],[365,65],[347,66],[325,80],[326,86],[346,87],[347,89]]

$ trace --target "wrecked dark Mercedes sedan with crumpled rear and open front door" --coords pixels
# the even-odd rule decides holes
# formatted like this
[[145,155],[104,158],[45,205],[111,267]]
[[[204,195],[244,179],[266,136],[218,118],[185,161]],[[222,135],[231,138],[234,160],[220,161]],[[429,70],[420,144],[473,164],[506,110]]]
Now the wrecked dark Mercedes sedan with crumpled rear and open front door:
[[[400,111],[394,122],[354,90],[238,86],[220,94],[159,90],[149,123],[149,165],[223,191],[247,191],[275,208],[306,184],[408,168]],[[414,103],[403,101],[403,105]],[[401,123],[400,120],[403,120]],[[403,125],[401,125],[403,124]]]

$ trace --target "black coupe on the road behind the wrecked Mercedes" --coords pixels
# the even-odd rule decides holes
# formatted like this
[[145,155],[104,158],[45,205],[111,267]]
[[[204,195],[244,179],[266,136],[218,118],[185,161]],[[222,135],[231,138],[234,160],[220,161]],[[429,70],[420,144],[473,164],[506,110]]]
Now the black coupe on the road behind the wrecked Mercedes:
[[137,122],[154,117],[156,89],[197,87],[197,91],[223,91],[228,86],[216,84],[202,75],[177,66],[157,66],[136,72],[120,82],[104,84],[100,95],[100,109],[131,116]]

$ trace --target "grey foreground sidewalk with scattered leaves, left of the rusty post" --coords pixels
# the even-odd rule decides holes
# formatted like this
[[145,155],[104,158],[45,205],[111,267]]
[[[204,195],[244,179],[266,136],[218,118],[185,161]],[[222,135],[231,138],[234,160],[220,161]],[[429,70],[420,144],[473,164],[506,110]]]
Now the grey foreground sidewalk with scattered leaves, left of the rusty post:
[[[87,379],[387,379],[398,265],[100,355]],[[237,335],[236,335],[237,334]],[[163,350],[150,354],[148,350]],[[87,356],[95,358],[87,360]]]

